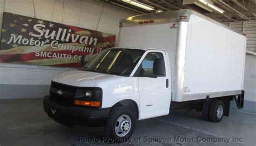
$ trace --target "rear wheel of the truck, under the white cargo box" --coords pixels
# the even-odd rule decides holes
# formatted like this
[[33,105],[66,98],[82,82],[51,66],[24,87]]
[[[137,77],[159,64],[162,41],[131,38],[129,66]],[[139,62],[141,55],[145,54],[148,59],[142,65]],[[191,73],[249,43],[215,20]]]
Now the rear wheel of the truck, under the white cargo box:
[[209,109],[209,118],[212,122],[220,122],[224,115],[224,103],[222,100],[213,100]]

